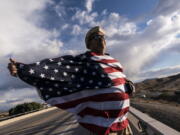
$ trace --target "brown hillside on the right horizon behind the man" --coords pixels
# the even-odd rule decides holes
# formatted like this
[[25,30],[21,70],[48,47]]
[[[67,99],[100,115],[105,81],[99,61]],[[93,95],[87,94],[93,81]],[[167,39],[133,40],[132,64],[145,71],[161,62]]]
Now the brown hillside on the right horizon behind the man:
[[175,91],[180,90],[180,74],[164,77],[147,79],[142,82],[136,83],[136,91]]

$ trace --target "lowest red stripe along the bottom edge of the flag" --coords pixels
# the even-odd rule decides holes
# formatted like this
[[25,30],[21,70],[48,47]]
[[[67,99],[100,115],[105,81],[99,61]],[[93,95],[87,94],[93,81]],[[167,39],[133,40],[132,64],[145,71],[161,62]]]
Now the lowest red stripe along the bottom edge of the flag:
[[87,124],[87,123],[79,123],[84,128],[90,130],[91,132],[97,133],[98,135],[108,135],[110,132],[117,132],[125,129],[129,122],[128,120],[124,120],[122,122],[114,123],[111,125],[111,127],[101,127],[93,124]]

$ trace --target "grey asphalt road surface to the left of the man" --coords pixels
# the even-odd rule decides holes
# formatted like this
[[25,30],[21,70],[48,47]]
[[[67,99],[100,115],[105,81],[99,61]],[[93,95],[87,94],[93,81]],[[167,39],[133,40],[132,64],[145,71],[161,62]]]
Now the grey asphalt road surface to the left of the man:
[[87,135],[72,114],[52,110],[0,127],[0,135]]

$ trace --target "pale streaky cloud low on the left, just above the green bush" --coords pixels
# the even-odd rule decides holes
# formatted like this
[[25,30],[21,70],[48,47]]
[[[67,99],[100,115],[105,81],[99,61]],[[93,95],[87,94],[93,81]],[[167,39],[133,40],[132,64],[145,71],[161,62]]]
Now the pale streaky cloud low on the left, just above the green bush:
[[4,111],[24,102],[43,103],[34,88],[8,89],[6,91],[0,91],[0,95],[0,110]]

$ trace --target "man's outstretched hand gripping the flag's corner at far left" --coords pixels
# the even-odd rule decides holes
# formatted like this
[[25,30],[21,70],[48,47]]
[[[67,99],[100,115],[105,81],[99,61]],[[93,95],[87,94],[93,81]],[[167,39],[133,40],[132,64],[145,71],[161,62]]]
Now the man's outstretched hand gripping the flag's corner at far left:
[[17,77],[17,67],[16,67],[17,62],[11,58],[9,60],[10,63],[8,63],[7,68],[9,69],[9,72],[12,76]]

